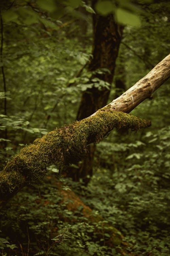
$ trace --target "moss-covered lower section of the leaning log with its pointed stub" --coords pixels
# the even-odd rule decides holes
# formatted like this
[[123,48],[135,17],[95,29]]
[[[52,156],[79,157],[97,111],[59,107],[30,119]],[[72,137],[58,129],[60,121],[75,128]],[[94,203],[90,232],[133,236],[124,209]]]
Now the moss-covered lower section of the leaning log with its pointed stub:
[[48,132],[12,157],[0,172],[0,203],[22,186],[43,179],[50,165],[55,164],[62,170],[70,163],[83,159],[86,146],[101,141],[114,127],[137,130],[150,125],[150,121],[111,111],[107,106],[94,116]]

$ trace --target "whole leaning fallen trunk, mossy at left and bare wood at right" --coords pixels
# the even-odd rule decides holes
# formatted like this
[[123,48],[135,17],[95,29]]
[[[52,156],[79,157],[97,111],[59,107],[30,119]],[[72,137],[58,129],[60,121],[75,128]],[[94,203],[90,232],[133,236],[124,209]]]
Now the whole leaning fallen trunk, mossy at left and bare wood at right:
[[[12,157],[0,172],[0,206],[24,185],[43,179],[48,167],[55,164],[62,170],[85,157],[87,145],[98,143],[114,127],[140,129],[149,121],[125,114],[170,77],[170,54],[128,91],[91,116],[71,125],[48,132]],[[123,111],[123,112],[117,112]]]

